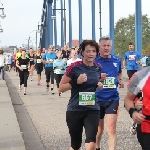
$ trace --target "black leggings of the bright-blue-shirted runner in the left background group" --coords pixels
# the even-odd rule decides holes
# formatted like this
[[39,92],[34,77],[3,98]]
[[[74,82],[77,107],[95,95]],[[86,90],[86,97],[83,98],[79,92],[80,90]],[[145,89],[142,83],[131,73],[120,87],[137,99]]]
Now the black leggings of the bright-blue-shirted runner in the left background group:
[[46,67],[45,68],[45,74],[46,74],[46,82],[49,83],[51,79],[51,84],[54,84],[54,70],[51,67]]

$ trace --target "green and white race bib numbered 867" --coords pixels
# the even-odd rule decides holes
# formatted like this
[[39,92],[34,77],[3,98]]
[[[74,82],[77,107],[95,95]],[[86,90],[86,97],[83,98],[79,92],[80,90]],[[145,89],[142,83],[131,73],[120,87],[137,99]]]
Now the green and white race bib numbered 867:
[[79,105],[95,105],[95,92],[79,92]]

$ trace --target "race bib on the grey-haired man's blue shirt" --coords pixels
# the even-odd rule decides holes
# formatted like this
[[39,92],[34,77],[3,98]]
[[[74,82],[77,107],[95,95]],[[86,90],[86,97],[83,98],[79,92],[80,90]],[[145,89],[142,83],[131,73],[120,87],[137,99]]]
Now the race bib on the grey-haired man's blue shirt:
[[103,81],[103,88],[116,88],[115,77],[106,77]]

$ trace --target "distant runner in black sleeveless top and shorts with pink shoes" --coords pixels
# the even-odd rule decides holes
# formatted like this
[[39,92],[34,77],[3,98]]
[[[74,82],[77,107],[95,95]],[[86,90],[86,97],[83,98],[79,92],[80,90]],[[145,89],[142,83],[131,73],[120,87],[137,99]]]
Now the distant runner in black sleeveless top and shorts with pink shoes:
[[36,52],[36,56],[35,56],[35,60],[36,60],[36,71],[37,71],[37,80],[38,83],[37,85],[41,85],[41,72],[43,71],[43,63],[42,63],[42,55],[41,55],[41,50],[38,47],[37,48],[37,52]]

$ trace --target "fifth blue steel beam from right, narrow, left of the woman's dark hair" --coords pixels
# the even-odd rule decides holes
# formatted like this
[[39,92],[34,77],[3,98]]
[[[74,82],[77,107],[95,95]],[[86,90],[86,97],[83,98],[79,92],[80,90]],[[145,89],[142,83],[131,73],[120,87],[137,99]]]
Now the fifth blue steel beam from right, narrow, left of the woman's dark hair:
[[69,47],[72,47],[72,12],[71,12],[71,0],[68,0],[69,7]]

